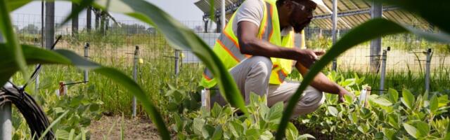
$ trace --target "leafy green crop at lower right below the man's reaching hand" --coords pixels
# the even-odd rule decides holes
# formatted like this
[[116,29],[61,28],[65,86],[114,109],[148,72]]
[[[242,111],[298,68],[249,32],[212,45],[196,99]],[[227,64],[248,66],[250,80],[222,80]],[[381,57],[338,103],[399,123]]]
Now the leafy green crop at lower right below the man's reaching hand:
[[[354,91],[352,87],[347,89]],[[357,99],[338,104],[336,95],[327,94],[321,108],[298,120],[307,127],[305,130],[319,130],[319,136],[333,139],[445,139],[450,118],[444,113],[450,109],[449,98],[439,94],[428,97],[427,93],[414,97],[409,90],[402,93],[402,97],[393,89],[380,96],[373,93],[369,107],[362,107]]]

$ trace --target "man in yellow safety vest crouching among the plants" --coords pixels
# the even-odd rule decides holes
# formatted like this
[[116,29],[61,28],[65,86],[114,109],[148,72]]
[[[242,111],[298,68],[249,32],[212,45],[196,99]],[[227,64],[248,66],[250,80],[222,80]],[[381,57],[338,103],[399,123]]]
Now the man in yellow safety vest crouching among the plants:
[[[323,51],[300,49],[294,46],[294,34],[300,33],[312,20],[321,0],[247,0],[233,13],[214,45],[233,76],[245,103],[250,92],[266,95],[268,106],[283,102],[285,106],[300,83],[285,81],[293,65],[304,76]],[[216,85],[212,73],[205,69],[201,85]],[[323,92],[338,94],[342,102],[345,88],[319,73],[295,106],[293,117],[311,113],[323,104]],[[220,94],[211,97],[220,105],[226,101]]]

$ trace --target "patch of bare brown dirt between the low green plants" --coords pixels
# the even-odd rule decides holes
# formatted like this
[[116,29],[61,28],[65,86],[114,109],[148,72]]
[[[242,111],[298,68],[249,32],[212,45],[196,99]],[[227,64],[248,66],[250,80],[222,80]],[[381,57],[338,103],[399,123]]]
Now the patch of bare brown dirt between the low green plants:
[[122,124],[124,124],[124,139],[160,139],[156,126],[151,124],[150,120],[125,117],[122,123],[121,117],[103,116],[100,120],[92,122],[89,127],[91,139],[120,139]]

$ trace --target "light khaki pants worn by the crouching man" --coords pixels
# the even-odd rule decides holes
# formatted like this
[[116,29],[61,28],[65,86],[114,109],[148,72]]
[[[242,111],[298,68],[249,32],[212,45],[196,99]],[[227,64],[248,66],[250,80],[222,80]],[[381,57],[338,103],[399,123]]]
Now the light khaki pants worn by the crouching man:
[[[268,106],[272,106],[277,102],[283,102],[284,106],[288,106],[290,97],[295,93],[300,83],[284,82],[281,85],[271,85],[269,84],[271,69],[271,60],[262,56],[244,59],[231,69],[230,73],[243,97],[245,97],[245,104],[250,102],[250,92],[254,92],[260,96],[266,94]],[[323,96],[323,92],[308,86],[295,106],[293,118],[314,112],[324,101],[325,96]],[[214,102],[222,106],[226,104],[226,101],[220,94],[215,94],[211,97],[211,104],[214,104]]]

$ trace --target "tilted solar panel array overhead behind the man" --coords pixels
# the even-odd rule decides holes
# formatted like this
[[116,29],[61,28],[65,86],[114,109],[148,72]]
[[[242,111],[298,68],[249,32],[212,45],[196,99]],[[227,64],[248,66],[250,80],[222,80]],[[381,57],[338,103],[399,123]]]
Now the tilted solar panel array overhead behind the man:
[[[195,2],[195,6],[200,8],[205,15],[210,14],[210,0],[200,0]],[[227,18],[230,18],[237,7],[244,0],[226,0]],[[319,27],[321,29],[331,29],[333,27],[331,14],[333,11],[333,0],[323,0],[326,7],[319,6],[314,11],[314,20],[311,26]],[[221,0],[214,0],[214,10],[216,15],[220,13]],[[338,29],[351,29],[361,23],[371,19],[371,2],[361,0],[340,0],[338,1]],[[208,16],[205,16],[207,18]],[[430,25],[425,20],[413,15],[409,12],[401,10],[394,6],[383,6],[383,18],[411,25],[421,29],[428,29]]]

